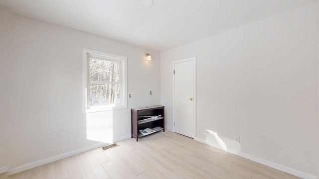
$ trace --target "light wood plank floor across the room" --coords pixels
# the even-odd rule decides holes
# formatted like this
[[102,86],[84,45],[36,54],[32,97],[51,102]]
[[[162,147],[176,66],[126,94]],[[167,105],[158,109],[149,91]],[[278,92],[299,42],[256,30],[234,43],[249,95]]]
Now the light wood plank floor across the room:
[[169,131],[0,179],[299,179]]

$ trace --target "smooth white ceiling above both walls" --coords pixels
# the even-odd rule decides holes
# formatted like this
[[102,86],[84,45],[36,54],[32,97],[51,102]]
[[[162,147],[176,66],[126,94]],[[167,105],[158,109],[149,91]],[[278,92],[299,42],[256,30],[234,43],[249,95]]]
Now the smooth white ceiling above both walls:
[[156,51],[316,0],[0,0],[13,13]]

